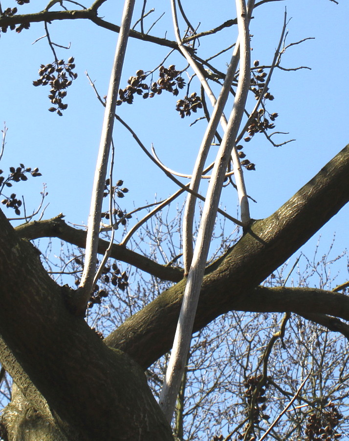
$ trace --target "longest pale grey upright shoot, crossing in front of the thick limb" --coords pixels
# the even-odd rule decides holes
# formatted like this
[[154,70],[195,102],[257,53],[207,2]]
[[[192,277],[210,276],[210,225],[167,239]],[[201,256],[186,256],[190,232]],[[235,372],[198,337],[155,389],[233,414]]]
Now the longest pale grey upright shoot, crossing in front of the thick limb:
[[196,247],[194,250],[193,263],[189,271],[175,333],[174,346],[160,395],[159,404],[168,421],[172,420],[175,400],[186,364],[196,315],[196,307],[216,220],[222,184],[227,164],[230,160],[230,152],[235,145],[235,139],[240,127],[250,85],[250,37],[248,31],[247,9],[243,0],[237,0],[236,3],[241,45],[239,83],[227,130],[224,134],[221,147],[218,150],[217,160],[212,172],[213,178],[210,181],[206,202],[203,208],[202,220],[200,222]]

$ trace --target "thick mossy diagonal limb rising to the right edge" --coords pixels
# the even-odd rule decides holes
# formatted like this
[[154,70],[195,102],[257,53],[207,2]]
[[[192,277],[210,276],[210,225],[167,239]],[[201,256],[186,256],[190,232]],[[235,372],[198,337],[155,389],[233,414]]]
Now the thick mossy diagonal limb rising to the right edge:
[[[198,330],[221,314],[230,310],[277,311],[275,298],[261,296],[257,304],[256,287],[300,246],[334,216],[349,200],[349,146],[335,156],[313,179],[291,197],[279,210],[267,219],[254,221],[240,241],[206,271],[197,307],[194,330]],[[175,326],[185,288],[185,280],[165,291],[136,316],[128,319],[106,339],[106,343],[125,350],[146,368],[166,353],[172,345]],[[275,291],[277,292],[277,291]],[[337,304],[344,305],[347,297],[328,294]],[[278,297],[280,311],[290,310],[290,301]],[[300,313],[299,304],[307,305],[307,313],[322,313],[342,317],[329,303],[321,303],[317,297],[311,302],[297,298],[294,312]],[[316,301],[315,301],[316,299]],[[308,299],[309,300],[309,299]],[[301,303],[300,303],[301,302]],[[323,309],[321,310],[321,305]],[[346,305],[346,303],[345,303]],[[311,310],[311,308],[314,308]],[[342,317],[346,319],[345,317]],[[349,317],[347,317],[349,319]],[[166,329],[167,332],[163,332]],[[131,333],[132,331],[132,333]]]

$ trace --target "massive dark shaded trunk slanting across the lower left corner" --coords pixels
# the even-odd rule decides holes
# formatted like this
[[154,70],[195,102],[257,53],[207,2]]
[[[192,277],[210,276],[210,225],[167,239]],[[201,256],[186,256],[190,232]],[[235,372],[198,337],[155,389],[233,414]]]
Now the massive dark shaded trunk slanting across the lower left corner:
[[[172,440],[143,371],[68,312],[38,250],[2,213],[0,231],[0,335],[63,425],[79,440]],[[0,360],[19,384],[18,364]]]

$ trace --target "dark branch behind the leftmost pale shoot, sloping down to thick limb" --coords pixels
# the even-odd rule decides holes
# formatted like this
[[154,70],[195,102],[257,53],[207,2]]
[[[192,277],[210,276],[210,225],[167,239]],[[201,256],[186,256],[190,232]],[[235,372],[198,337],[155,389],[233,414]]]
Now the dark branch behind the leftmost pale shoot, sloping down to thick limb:
[[[66,224],[62,214],[46,221],[24,223],[15,229],[22,239],[34,240],[41,237],[57,237],[80,248],[85,248],[86,246],[86,231],[73,228]],[[98,253],[104,254],[108,246],[108,241],[100,239]],[[160,265],[148,257],[131,251],[125,246],[114,244],[110,257],[128,263],[162,280],[178,282],[183,278],[183,270]]]

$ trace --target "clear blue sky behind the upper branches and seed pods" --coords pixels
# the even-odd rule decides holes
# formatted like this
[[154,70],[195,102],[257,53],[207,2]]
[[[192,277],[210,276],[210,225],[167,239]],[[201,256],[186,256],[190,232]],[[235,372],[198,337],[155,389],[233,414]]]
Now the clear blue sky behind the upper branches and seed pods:
[[[8,0],[8,3],[2,7],[15,6],[14,1]],[[119,24],[123,2],[119,1],[117,5],[109,3],[101,13],[105,14],[106,20]],[[142,3],[134,14],[134,21],[139,18]],[[201,31],[236,16],[233,1],[186,3],[188,18],[194,26],[200,22]],[[44,9],[45,5],[45,1],[33,1],[18,8],[24,13]],[[152,7],[155,12],[145,21],[145,27],[166,11],[151,33],[163,37],[167,30],[167,37],[174,40],[167,2],[148,0],[146,10]],[[269,64],[273,58],[285,7],[288,18],[292,18],[288,24],[287,42],[307,37],[315,37],[315,40],[289,48],[282,65],[285,68],[308,66],[311,70],[277,71],[270,85],[275,100],[269,109],[280,115],[276,129],[289,132],[282,140],[292,138],[296,141],[275,148],[260,135],[244,149],[247,157],[256,164],[255,172],[245,173],[248,193],[258,201],[251,206],[251,215],[255,219],[273,213],[349,143],[349,3],[346,0],[339,0],[339,5],[329,0],[289,0],[259,7],[251,23],[251,44],[252,58],[261,60],[262,64]],[[63,212],[67,221],[82,224],[87,222],[104,110],[88,84],[85,71],[95,81],[100,94],[105,95],[117,34],[87,21],[53,22],[49,29],[55,43],[63,46],[71,43],[69,50],[57,48],[57,53],[65,60],[74,56],[79,75],[68,89],[66,102],[69,106],[63,117],[47,111],[51,106],[47,99],[48,89],[32,86],[40,64],[53,61],[45,39],[32,44],[44,35],[44,25],[33,24],[19,35],[14,31],[1,33],[0,122],[5,121],[9,128],[1,169],[6,171],[8,166],[20,162],[27,167],[39,167],[42,177],[31,179],[14,191],[25,196],[27,207],[34,208],[45,182],[49,193],[47,201],[50,202],[45,218]],[[236,29],[232,28],[213,38],[204,37],[198,54],[214,54],[233,43],[235,37]],[[166,49],[131,39],[122,85],[126,85],[127,78],[136,70],[153,69],[166,54]],[[227,54],[219,57],[218,67],[224,69],[229,57]],[[185,67],[178,55],[166,63],[175,64],[178,69]],[[195,82],[191,88],[191,92],[194,91],[199,91]],[[191,173],[204,124],[199,122],[189,127],[195,117],[181,120],[175,111],[175,101],[180,96],[164,95],[153,100],[136,98],[132,106],[123,104],[118,111],[147,147],[154,144],[166,165]],[[252,100],[251,106],[253,104]],[[133,203],[135,206],[144,205],[145,200],[153,202],[155,194],[157,198],[165,198],[175,192],[175,184],[150,163],[118,124],[114,140],[117,156],[115,179],[123,179],[130,190],[124,200],[125,208],[131,209]],[[224,193],[222,205],[233,216],[236,214],[237,199],[232,189]],[[325,248],[330,244],[333,233],[337,234],[333,257],[348,246],[348,215],[347,206],[322,229]],[[311,254],[318,236],[306,245],[308,254]],[[348,274],[343,275],[338,283],[347,278]]]

